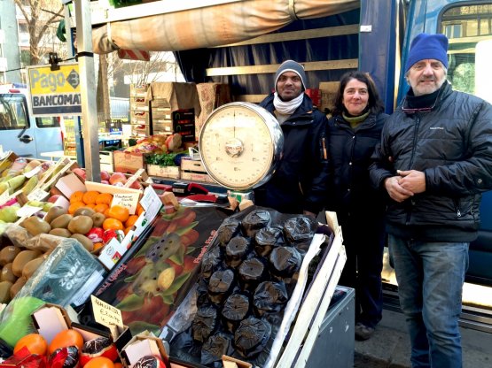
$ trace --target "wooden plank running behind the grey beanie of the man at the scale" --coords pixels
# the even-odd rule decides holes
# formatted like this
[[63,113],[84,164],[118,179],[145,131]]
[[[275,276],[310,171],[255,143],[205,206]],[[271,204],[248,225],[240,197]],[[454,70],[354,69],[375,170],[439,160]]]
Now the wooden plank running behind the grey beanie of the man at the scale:
[[[359,60],[356,58],[347,58],[340,60],[312,61],[301,63],[304,65],[306,72],[333,70],[333,69],[357,69]],[[264,74],[277,73],[280,64],[270,65],[249,65],[249,66],[226,66],[222,68],[206,69],[207,77],[223,75],[246,75],[246,74]]]

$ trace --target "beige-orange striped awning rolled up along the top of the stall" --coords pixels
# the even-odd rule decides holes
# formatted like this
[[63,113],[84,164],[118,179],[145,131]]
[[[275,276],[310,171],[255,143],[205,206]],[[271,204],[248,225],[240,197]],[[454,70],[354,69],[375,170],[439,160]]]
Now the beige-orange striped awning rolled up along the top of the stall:
[[94,51],[178,51],[242,42],[295,19],[327,17],[360,6],[359,0],[244,0],[182,12],[109,22],[92,31]]

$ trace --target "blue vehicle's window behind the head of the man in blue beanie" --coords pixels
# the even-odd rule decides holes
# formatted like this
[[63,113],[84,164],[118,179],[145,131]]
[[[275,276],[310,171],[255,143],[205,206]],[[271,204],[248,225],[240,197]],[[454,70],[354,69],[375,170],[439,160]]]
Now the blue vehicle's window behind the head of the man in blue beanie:
[[492,39],[492,2],[449,8],[441,16],[441,33],[449,38],[448,80],[453,88],[476,94],[476,45]]

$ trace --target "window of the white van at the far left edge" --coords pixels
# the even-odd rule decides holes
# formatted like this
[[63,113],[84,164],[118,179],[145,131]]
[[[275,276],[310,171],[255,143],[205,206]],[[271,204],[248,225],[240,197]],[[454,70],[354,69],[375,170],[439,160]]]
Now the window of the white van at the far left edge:
[[0,129],[24,129],[29,127],[26,100],[22,95],[0,95]]

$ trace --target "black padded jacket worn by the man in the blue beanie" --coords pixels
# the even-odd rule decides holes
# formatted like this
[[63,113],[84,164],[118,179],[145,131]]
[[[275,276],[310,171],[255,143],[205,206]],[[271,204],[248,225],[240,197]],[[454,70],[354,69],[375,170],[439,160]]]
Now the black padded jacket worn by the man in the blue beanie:
[[[393,162],[388,160],[393,157]],[[371,181],[384,188],[396,170],[426,175],[426,191],[387,210],[387,231],[424,242],[471,242],[480,225],[481,192],[492,189],[492,106],[476,96],[441,87],[430,112],[387,120],[374,153]]]

